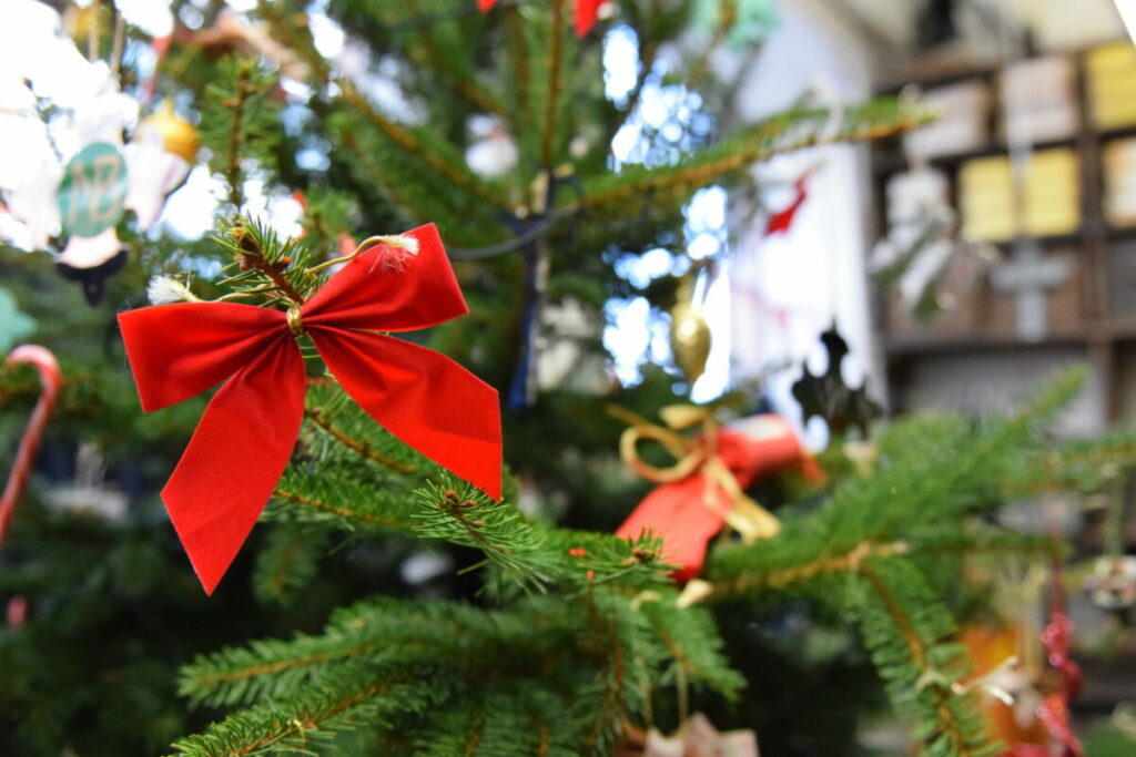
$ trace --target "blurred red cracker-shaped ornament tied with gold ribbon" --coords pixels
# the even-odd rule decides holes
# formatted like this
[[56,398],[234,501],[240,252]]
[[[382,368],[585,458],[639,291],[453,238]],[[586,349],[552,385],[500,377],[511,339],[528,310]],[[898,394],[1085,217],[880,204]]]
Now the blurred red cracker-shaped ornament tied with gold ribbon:
[[[738,430],[712,423],[707,427],[694,439],[657,426],[636,426],[625,431],[625,439],[632,439],[630,446],[640,437],[653,438],[679,457],[679,462],[670,469],[653,468],[628,453],[624,443],[625,462],[662,486],[643,498],[616,535],[633,539],[651,531],[659,536],[661,561],[679,566],[674,573],[678,581],[688,581],[702,572],[707,546],[726,522],[750,540],[777,532],[777,520],[742,494],[743,489],[791,466],[811,479],[824,477],[793,428],[779,415],[757,415],[744,421]],[[676,446],[677,439],[683,439],[685,449]]]

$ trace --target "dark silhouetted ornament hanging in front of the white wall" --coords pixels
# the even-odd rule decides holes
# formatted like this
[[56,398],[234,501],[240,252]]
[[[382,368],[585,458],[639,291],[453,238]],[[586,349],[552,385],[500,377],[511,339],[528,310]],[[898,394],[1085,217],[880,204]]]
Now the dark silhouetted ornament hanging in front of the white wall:
[[843,434],[851,427],[868,438],[868,422],[880,414],[879,405],[868,398],[867,379],[858,389],[844,384],[841,363],[849,354],[849,345],[834,325],[820,335],[828,352],[828,370],[813,376],[808,365],[802,367],[801,378],[793,384],[793,397],[801,404],[804,422],[816,415],[828,423],[833,434]]

